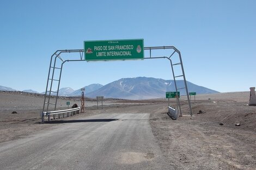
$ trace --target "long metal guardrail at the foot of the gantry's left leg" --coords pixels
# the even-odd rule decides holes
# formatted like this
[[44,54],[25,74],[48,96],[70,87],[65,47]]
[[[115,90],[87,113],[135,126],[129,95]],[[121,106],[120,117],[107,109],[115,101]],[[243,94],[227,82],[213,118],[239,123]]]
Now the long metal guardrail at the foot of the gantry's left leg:
[[[42,122],[45,121],[45,116],[48,116],[48,121],[51,121],[51,115],[53,115],[53,119],[56,119],[56,115],[58,115],[58,118],[65,118],[69,116],[73,116],[76,114],[79,114],[79,108],[73,108],[73,109],[66,109],[66,110],[56,110],[56,111],[44,111],[41,113]],[[63,114],[63,115],[60,115]]]

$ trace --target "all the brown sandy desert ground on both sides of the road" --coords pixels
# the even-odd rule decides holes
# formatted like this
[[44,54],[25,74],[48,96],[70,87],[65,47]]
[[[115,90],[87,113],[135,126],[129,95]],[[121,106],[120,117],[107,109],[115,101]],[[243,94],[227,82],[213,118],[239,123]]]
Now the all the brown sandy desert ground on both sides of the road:
[[[249,92],[197,95],[196,102],[192,100],[191,117],[187,116],[186,98],[181,97],[184,116],[176,120],[167,115],[167,99],[110,99],[103,103],[103,110],[90,100],[86,101],[86,113],[65,119],[102,112],[147,112],[156,141],[175,169],[256,169],[256,106],[246,106],[248,99]],[[66,108],[67,100],[59,99],[58,108]],[[43,102],[42,95],[0,92],[0,142],[58,125],[40,123]],[[80,100],[71,100],[73,103],[79,104]],[[175,100],[170,100],[170,105],[175,106]],[[199,110],[205,114],[198,115]],[[13,111],[17,114],[11,114]]]

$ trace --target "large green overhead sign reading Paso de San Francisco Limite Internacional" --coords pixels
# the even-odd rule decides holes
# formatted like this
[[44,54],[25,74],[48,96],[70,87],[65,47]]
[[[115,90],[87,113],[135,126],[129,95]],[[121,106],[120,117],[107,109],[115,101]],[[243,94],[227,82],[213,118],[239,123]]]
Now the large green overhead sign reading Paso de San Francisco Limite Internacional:
[[143,39],[84,41],[84,59],[137,60],[144,59]]

